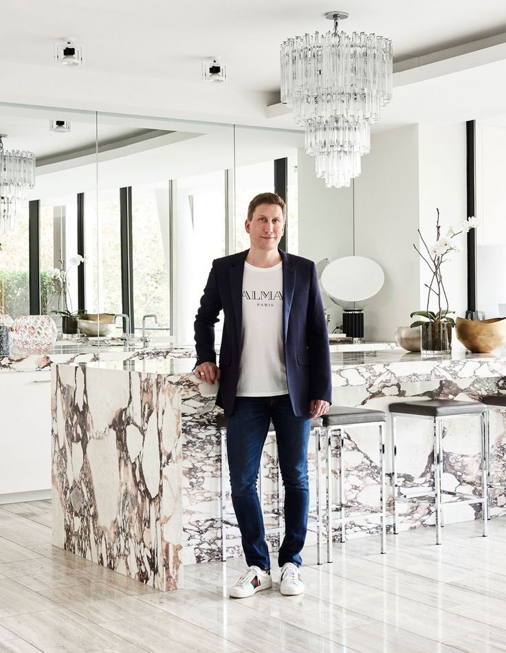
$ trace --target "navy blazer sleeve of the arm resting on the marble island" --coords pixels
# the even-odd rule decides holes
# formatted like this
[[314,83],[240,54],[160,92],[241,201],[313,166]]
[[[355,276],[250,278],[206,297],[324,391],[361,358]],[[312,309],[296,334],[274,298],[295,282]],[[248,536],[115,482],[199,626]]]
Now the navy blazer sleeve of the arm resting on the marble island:
[[216,261],[212,261],[212,268],[209,272],[206,288],[200,299],[199,310],[193,324],[195,332],[195,350],[197,351],[197,363],[216,363],[216,352],[214,351],[214,325],[217,323],[221,311],[221,299],[218,292],[216,279]]

